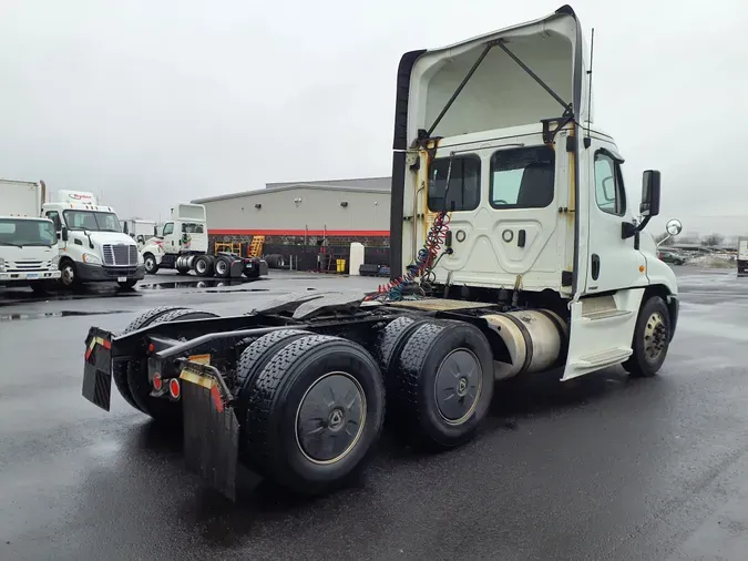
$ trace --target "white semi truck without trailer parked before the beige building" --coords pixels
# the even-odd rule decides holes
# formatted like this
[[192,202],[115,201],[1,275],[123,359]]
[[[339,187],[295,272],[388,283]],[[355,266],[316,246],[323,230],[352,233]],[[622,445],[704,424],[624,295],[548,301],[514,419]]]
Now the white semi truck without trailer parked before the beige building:
[[197,276],[257,278],[267,274],[267,264],[255,257],[232,253],[208,253],[207,215],[202,204],[180,203],[172,210],[172,220],[164,223],[156,237],[141,249],[145,272],[155,275],[160,268],[172,268],[181,275],[194,271]]

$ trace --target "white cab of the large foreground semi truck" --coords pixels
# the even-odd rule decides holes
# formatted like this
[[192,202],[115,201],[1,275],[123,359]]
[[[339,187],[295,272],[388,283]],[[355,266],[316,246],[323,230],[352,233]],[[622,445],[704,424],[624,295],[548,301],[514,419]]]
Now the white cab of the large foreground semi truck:
[[[498,379],[556,359],[564,380],[622,363],[650,375],[675,330],[675,275],[645,230],[660,174],[644,172],[637,208],[623,152],[594,122],[588,52],[564,6],[400,62],[393,286],[420,276],[436,296],[505,302],[518,317],[486,318],[505,347]],[[543,323],[530,310],[562,335],[523,336]]]

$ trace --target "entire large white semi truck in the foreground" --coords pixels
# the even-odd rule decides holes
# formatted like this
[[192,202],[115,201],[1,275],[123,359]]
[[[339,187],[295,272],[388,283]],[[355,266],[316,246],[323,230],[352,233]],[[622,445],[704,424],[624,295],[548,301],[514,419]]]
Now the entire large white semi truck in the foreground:
[[623,157],[590,122],[581,29],[565,6],[402,57],[389,283],[92,327],[83,396],[109,410],[114,380],[181,426],[187,468],[235,498],[239,463],[306,493],[347,484],[386,416],[411,445],[459,447],[509,378],[656,375],[678,318],[645,230],[660,175],[644,172],[635,214]]

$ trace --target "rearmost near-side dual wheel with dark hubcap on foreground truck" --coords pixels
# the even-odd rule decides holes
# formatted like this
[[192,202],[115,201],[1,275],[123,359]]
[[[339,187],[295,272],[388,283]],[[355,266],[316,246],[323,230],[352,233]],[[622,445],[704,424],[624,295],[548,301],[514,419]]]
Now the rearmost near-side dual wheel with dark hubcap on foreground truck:
[[[381,434],[385,386],[377,363],[361,346],[324,335],[291,340],[247,390],[243,439],[252,468],[262,476],[318,494],[346,484],[366,467]],[[308,429],[306,436],[312,432],[312,438],[299,435],[301,418],[315,421],[322,412],[327,422]],[[338,449],[314,450],[322,439]]]

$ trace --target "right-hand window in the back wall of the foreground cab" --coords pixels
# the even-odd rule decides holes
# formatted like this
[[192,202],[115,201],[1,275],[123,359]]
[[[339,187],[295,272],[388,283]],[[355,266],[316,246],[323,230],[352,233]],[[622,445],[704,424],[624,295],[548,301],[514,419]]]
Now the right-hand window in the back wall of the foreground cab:
[[553,202],[555,152],[547,146],[500,150],[491,156],[491,206],[544,208]]

